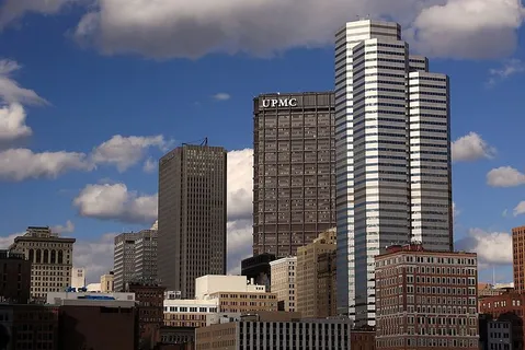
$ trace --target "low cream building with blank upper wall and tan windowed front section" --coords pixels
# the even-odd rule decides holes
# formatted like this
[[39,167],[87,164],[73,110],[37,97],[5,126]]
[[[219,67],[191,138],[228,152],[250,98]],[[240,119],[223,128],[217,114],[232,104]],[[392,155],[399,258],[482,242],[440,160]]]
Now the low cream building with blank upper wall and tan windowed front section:
[[251,284],[246,276],[208,275],[195,280],[196,300],[216,300],[220,313],[277,311],[277,294]]

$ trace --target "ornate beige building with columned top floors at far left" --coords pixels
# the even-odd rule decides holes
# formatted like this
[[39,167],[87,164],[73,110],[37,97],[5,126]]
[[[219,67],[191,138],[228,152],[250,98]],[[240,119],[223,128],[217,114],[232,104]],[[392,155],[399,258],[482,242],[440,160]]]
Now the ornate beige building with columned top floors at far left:
[[48,292],[71,285],[75,238],[59,237],[46,228],[27,228],[14,238],[10,250],[23,253],[31,264],[31,298],[45,301]]

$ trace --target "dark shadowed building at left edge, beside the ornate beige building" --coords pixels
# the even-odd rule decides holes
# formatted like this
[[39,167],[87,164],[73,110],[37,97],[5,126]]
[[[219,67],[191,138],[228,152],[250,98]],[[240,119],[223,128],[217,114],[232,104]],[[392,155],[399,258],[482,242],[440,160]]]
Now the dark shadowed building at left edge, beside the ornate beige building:
[[31,261],[23,254],[0,250],[0,302],[27,304],[31,292]]

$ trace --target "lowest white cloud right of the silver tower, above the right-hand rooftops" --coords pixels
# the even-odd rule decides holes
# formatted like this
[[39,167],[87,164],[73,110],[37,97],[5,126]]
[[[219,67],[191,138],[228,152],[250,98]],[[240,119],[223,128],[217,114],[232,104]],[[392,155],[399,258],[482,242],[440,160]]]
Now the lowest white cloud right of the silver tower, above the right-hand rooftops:
[[456,242],[455,248],[477,253],[482,265],[512,264],[512,236],[506,232],[470,229],[467,237]]

